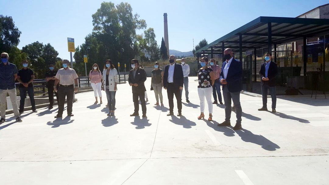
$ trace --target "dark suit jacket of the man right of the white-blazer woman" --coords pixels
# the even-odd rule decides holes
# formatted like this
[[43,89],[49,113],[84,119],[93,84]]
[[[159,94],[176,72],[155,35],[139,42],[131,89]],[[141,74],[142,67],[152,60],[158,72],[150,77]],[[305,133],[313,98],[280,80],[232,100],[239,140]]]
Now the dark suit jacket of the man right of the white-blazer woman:
[[129,71],[129,77],[128,77],[128,83],[129,84],[130,83],[132,83],[132,84],[137,83],[138,84],[137,87],[131,86],[133,93],[143,93],[143,92],[145,92],[146,89],[145,89],[144,82],[146,81],[146,72],[144,71],[144,69],[138,67],[137,71],[136,71],[136,74],[135,74],[135,78],[134,78],[133,71],[134,71],[134,69]]

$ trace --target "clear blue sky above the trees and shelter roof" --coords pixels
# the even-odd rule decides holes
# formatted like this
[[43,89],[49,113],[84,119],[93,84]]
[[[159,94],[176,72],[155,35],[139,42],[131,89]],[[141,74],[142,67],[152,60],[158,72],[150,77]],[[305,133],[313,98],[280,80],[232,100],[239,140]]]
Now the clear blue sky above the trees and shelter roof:
[[[104,0],[1,0],[0,14],[12,16],[22,32],[18,48],[39,41],[50,43],[59,57],[69,59],[67,37],[75,46],[92,32],[91,15]],[[113,0],[114,4],[121,1]],[[154,28],[158,44],[164,35],[163,13],[168,14],[169,49],[193,49],[200,40],[208,43],[259,16],[296,17],[328,0],[128,0],[133,13]],[[139,32],[142,33],[142,32]]]

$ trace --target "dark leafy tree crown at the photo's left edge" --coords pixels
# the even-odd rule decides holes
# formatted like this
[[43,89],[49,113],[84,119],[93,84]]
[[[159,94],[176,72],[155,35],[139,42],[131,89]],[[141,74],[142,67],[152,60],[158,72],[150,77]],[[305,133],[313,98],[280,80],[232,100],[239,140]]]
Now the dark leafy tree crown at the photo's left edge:
[[8,53],[13,46],[17,46],[21,33],[12,17],[0,15],[0,52]]

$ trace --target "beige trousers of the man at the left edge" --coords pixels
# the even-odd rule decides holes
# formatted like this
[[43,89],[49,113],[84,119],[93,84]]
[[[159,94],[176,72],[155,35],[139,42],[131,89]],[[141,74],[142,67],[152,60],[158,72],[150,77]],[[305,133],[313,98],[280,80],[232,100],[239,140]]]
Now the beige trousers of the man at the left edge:
[[6,118],[6,102],[7,102],[7,93],[9,94],[10,100],[13,105],[13,112],[16,118],[19,117],[18,105],[17,105],[17,95],[16,88],[10,90],[0,90],[0,110],[1,118]]

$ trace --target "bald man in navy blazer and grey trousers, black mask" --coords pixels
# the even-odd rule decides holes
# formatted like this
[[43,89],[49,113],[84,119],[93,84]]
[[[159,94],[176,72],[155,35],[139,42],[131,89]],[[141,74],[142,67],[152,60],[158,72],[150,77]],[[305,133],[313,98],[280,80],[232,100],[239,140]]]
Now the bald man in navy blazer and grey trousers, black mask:
[[231,48],[224,51],[222,71],[219,75],[219,81],[223,84],[223,98],[225,104],[225,121],[218,126],[230,126],[231,122],[231,99],[236,107],[237,123],[233,130],[241,129],[242,109],[240,104],[240,91],[242,90],[242,63],[235,60]]

